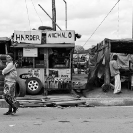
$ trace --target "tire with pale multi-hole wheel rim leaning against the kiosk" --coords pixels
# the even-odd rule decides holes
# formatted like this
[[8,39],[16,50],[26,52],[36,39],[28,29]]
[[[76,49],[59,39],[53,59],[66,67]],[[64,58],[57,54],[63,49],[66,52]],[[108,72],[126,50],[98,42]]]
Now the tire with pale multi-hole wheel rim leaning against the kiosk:
[[42,83],[41,81],[36,78],[36,77],[32,77],[26,80],[26,91],[29,94],[38,94],[42,89]]

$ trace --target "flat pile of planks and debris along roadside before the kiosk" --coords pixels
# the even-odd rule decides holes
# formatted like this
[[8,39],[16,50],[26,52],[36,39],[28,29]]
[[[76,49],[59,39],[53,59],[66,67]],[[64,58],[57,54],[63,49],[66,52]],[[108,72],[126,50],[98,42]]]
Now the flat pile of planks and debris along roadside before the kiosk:
[[20,107],[81,107],[88,106],[85,100],[74,97],[18,97]]

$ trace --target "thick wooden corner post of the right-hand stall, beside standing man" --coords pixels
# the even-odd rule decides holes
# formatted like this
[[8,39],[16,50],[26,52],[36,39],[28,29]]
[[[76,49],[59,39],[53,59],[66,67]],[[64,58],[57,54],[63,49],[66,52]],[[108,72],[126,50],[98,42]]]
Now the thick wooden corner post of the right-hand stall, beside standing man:
[[110,68],[109,68],[109,62],[110,62],[110,41],[104,40],[104,46],[105,46],[105,78],[104,78],[104,84],[110,85]]

